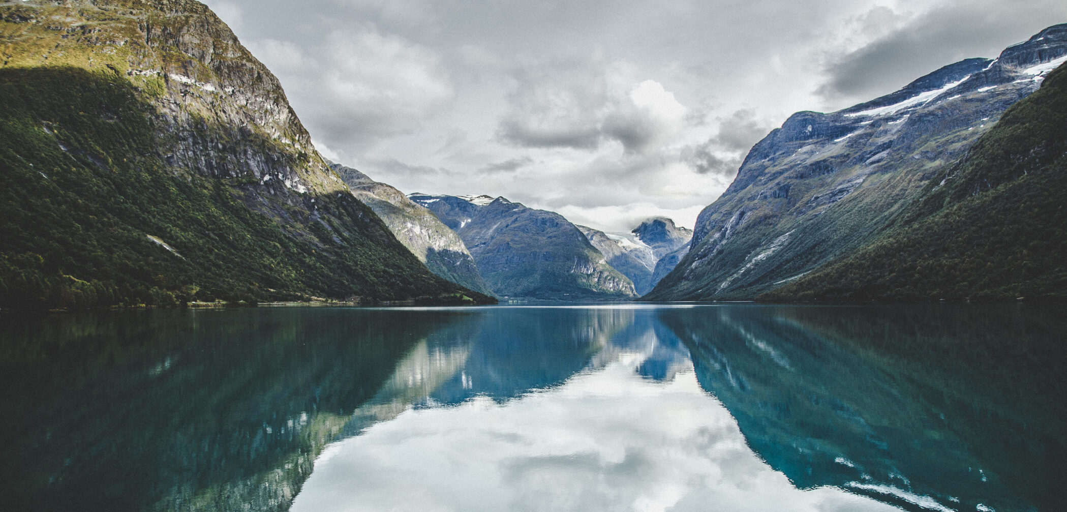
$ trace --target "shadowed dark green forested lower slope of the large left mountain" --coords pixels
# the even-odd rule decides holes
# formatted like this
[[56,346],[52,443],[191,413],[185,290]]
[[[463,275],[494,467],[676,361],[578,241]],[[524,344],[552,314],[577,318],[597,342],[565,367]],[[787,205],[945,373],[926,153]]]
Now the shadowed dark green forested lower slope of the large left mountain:
[[459,297],[347,194],[293,225],[312,243],[238,201],[240,178],[168,172],[138,94],[114,74],[0,69],[0,307]]

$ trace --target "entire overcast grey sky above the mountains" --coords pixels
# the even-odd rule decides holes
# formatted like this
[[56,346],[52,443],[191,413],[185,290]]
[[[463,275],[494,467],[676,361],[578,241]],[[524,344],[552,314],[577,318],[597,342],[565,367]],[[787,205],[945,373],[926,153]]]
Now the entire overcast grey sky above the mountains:
[[692,226],[749,147],[1067,22],[1063,0],[205,0],[316,147],[405,193]]

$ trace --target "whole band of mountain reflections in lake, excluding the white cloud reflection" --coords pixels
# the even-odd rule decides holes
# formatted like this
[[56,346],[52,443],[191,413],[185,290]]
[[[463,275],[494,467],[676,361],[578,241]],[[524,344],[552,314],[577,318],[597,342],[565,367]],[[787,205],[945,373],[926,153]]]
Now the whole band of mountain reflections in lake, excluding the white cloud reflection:
[[0,480],[12,510],[285,510],[327,443],[625,361],[660,381],[695,368],[799,487],[909,510],[1057,510],[1065,323],[1033,307],[745,305],[7,321]]

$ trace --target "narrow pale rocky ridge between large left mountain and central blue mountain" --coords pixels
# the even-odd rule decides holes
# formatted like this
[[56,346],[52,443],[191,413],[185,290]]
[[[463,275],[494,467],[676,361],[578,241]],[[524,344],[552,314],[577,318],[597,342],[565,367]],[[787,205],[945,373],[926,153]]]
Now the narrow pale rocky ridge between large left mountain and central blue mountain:
[[339,163],[330,164],[330,169],[348,185],[352,195],[375,210],[397,240],[426,263],[430,272],[479,293],[490,294],[463,240],[432,211],[409,199],[403,192],[375,181],[354,169]]

